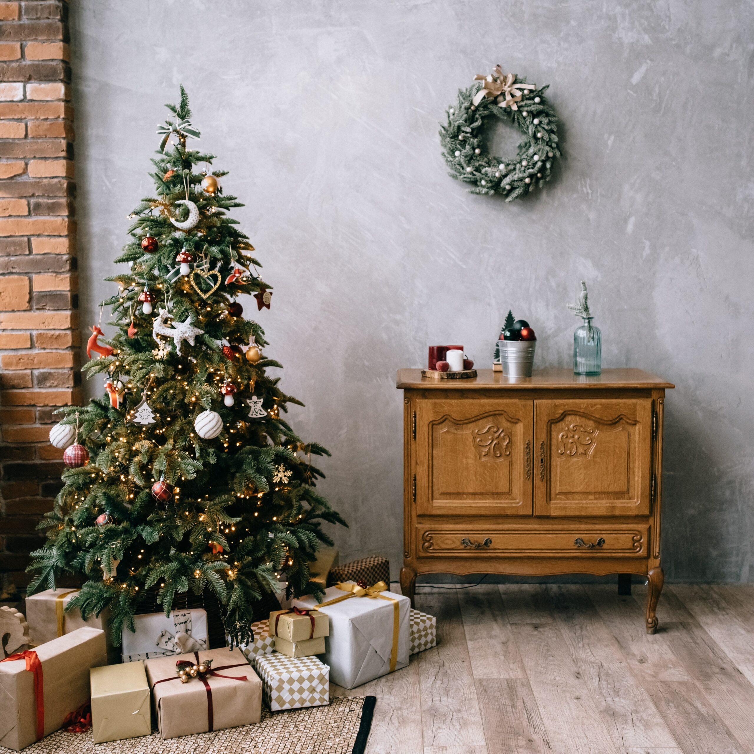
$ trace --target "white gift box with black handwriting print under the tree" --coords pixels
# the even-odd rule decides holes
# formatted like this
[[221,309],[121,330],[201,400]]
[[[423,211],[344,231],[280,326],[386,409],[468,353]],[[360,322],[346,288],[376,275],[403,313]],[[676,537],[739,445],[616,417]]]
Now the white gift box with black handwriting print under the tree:
[[124,662],[207,649],[207,613],[199,608],[135,615],[133,623],[136,633],[123,629]]

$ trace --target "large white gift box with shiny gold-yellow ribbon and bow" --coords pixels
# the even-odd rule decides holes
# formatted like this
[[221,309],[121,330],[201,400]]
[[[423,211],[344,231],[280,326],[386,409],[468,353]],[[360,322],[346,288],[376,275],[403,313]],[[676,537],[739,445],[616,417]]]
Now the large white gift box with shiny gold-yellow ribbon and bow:
[[330,680],[354,688],[406,667],[409,599],[389,592],[384,583],[367,590],[353,582],[341,587],[348,591],[339,587],[325,590],[320,605],[311,595],[293,600],[298,607],[317,608],[329,617],[330,633],[322,660],[329,665]]

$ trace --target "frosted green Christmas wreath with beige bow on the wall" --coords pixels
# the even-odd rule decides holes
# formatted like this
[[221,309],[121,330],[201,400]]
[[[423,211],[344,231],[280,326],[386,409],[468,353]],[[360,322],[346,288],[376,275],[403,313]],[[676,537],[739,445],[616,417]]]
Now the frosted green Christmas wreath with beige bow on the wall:
[[[549,84],[538,89],[500,66],[489,76],[477,74],[474,82],[458,90],[458,105],[448,108],[448,122],[440,127],[443,158],[451,178],[473,184],[471,194],[502,194],[513,201],[550,180],[553,160],[560,156],[558,118],[544,97]],[[485,151],[482,127],[489,115],[526,135],[515,160]]]

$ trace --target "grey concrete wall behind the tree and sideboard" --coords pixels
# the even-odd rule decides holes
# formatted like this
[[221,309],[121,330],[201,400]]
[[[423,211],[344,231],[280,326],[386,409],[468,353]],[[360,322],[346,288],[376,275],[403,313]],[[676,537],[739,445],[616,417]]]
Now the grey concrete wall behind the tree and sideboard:
[[[185,84],[275,286],[259,321],[307,404],[292,421],[333,452],[322,489],[351,522],[346,557],[400,566],[396,369],[435,342],[486,366],[509,307],[539,365],[568,366],[583,278],[603,366],[678,386],[667,576],[752,581],[752,17],[744,0],[78,0],[82,323],[113,290],[162,103]],[[556,179],[512,205],[464,192],[437,136],[495,63],[549,82],[562,118]]]

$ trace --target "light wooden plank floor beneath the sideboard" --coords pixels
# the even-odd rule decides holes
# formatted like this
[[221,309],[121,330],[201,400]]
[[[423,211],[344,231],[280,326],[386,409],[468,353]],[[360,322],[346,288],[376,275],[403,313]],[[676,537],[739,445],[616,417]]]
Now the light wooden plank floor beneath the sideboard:
[[[394,591],[400,587],[394,585]],[[367,754],[754,754],[754,585],[418,587],[439,644],[377,697]]]

